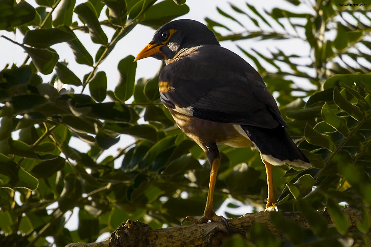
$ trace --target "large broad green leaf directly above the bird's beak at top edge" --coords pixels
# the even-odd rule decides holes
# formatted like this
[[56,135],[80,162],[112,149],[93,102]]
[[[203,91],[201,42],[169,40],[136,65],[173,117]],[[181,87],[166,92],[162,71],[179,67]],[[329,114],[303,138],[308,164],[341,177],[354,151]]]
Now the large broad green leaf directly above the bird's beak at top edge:
[[165,0],[151,6],[145,11],[139,23],[157,29],[174,18],[183,16],[188,12],[189,7],[187,5],[177,5],[173,0]]

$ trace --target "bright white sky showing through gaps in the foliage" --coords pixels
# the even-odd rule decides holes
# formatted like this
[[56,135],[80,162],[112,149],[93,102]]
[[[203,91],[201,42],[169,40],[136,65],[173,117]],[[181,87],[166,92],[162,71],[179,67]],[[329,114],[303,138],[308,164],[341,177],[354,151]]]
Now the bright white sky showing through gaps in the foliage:
[[[26,0],[26,1],[32,4],[33,6],[37,6],[35,1],[33,0]],[[83,3],[83,2],[84,1],[77,0],[76,6],[79,3]],[[246,24],[249,30],[257,29],[257,27],[253,25],[253,23],[246,16],[237,14],[235,11],[233,11],[229,3],[233,3],[234,5],[238,6],[240,9],[250,13],[251,16],[254,16],[254,14],[247,8],[245,1],[243,0],[228,0],[228,1],[227,0],[187,0],[186,4],[190,7],[190,12],[186,14],[185,16],[182,16],[178,19],[193,19],[193,20],[197,20],[197,21],[205,23],[204,19],[206,17],[209,17],[210,19],[226,24],[226,26],[230,27],[234,31],[244,30],[237,23],[221,16],[217,12],[217,9],[216,9],[216,7],[219,7],[221,10],[229,13],[230,15],[236,18],[238,17],[237,19],[243,22],[244,24]],[[293,6],[290,7],[290,5],[284,0],[260,0],[260,1],[253,1],[253,3],[250,1],[250,3],[256,7],[259,13],[264,13],[263,9],[271,10],[274,7],[288,8],[289,10],[296,12],[296,13],[308,12],[311,10],[311,8],[308,6],[305,6],[305,4],[302,4],[299,7],[293,7]],[[102,17],[105,17],[104,13],[105,11],[103,10]],[[76,15],[74,16],[74,18],[76,19]],[[261,25],[262,29],[265,29],[267,27],[268,26],[266,26],[266,24]],[[278,25],[276,27],[279,28]],[[222,28],[217,29],[217,30],[220,31],[222,34],[223,32],[224,33],[226,32],[226,30],[223,30]],[[106,27],[104,27],[104,31],[106,32],[108,37],[112,37],[112,34],[114,33],[114,30],[106,28]],[[99,69],[98,69],[98,71],[105,71],[107,74],[108,90],[114,90],[118,82],[118,78],[119,78],[119,73],[117,70],[118,62],[128,55],[133,55],[134,57],[137,56],[139,51],[141,51],[151,41],[154,32],[155,30],[149,27],[137,25],[127,36],[125,36],[122,40],[120,40],[116,44],[114,51],[99,66]],[[75,33],[79,37],[80,41],[87,47],[87,50],[94,57],[96,50],[98,50],[99,48],[99,45],[92,43],[89,37],[89,34],[85,34],[80,31],[76,31]],[[22,43],[23,36],[20,33],[16,33],[16,35],[14,35],[13,33],[9,33],[6,31],[0,31],[0,35],[7,36],[10,39],[13,39],[19,43]],[[275,43],[272,43],[272,41],[256,42],[256,40],[246,40],[246,41],[237,41],[236,43],[242,46],[246,50],[250,50],[253,47],[266,55],[269,55],[268,49],[274,50],[275,47],[279,47],[283,51],[287,51],[289,53],[295,53],[298,55],[309,55],[309,49],[310,49],[310,47],[307,44],[305,44],[304,42],[300,40],[275,41]],[[255,67],[252,61],[249,60],[246,56],[244,56],[242,52],[236,47],[236,43],[233,43],[231,41],[224,41],[221,43],[221,46],[226,47],[234,51],[235,53],[239,54],[245,60],[247,60],[250,64],[252,64],[253,67]],[[21,47],[3,38],[0,38],[0,47],[1,47],[0,48],[0,68],[1,69],[3,69],[7,63],[10,63],[10,65],[12,63],[15,63],[19,66],[23,63],[26,57],[26,54],[24,53]],[[56,44],[52,46],[52,48],[58,52],[60,56],[60,60],[68,61],[70,69],[76,72],[77,76],[80,79],[82,79],[84,74],[89,73],[91,71],[91,68],[89,66],[77,64],[75,62],[73,58],[73,53],[66,44]],[[160,67],[160,63],[161,62],[159,60],[155,60],[151,58],[138,61],[136,80],[138,80],[141,77],[146,77],[146,78],[152,77],[158,71],[158,68]],[[44,82],[47,82],[51,78],[50,75],[46,75],[42,77],[43,77]],[[304,82],[299,82],[299,83],[304,83]],[[306,86],[309,87],[309,85],[306,85]],[[79,92],[79,89],[76,89],[76,92]],[[85,89],[84,93],[88,93],[88,90]],[[16,135],[17,133],[13,133],[13,136],[16,136]],[[102,155],[102,157],[105,157],[106,155],[109,155],[109,154],[115,155],[117,153],[118,148],[127,146],[127,144],[132,143],[133,140],[134,139],[130,136],[122,135],[119,143],[109,148],[108,150],[106,150],[105,153]],[[82,152],[86,152],[89,150],[89,146],[77,138],[74,138],[70,144],[72,147],[75,147]],[[121,161],[122,159],[117,160],[115,167],[119,167],[121,165]],[[226,210],[227,208],[226,205],[229,202],[230,201],[224,202],[223,206],[220,208],[219,212],[217,213],[221,214],[222,212],[224,212],[224,210]],[[236,203],[236,204],[238,204],[239,206],[242,205],[241,203]],[[53,208],[53,207],[56,207],[56,205],[52,205],[49,208]],[[252,208],[239,207],[237,208],[237,211],[229,211],[229,212],[233,214],[244,214],[251,210]],[[66,227],[68,227],[70,230],[76,229],[77,210],[74,211],[74,214],[71,217],[70,221],[67,223]],[[104,240],[106,237],[108,236],[107,235],[102,236],[100,240]]]

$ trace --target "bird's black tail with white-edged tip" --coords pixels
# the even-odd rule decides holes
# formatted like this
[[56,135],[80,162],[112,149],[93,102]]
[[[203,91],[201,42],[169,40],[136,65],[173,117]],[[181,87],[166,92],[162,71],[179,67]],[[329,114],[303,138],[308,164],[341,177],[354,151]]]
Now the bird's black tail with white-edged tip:
[[295,167],[310,168],[309,159],[292,141],[284,127],[262,128],[241,125],[249,139],[255,144],[262,158],[274,166],[284,163]]

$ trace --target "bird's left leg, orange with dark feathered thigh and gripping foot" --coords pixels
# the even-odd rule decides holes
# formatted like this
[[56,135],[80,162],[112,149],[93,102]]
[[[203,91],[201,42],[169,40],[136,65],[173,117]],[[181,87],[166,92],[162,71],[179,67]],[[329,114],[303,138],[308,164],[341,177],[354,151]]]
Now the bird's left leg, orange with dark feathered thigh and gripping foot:
[[223,216],[217,216],[213,208],[214,187],[215,187],[215,182],[216,182],[216,178],[218,174],[218,169],[220,167],[219,150],[215,143],[209,146],[204,146],[202,148],[205,151],[206,157],[209,160],[209,164],[211,168],[209,192],[207,193],[207,200],[206,200],[206,207],[205,207],[204,215],[199,220],[196,220],[195,218],[191,216],[187,216],[182,221],[182,224],[187,221],[193,224],[201,224],[201,223],[206,223],[210,220],[210,221],[220,221],[228,226],[226,218],[224,218]]

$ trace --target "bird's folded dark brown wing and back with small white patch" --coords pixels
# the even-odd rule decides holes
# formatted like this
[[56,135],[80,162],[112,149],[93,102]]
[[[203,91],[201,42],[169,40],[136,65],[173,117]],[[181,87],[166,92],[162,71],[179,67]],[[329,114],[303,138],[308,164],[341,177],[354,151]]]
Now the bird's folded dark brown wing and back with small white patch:
[[263,79],[240,56],[211,45],[185,54],[160,74],[160,85],[166,85],[160,87],[165,106],[222,123],[286,126]]

